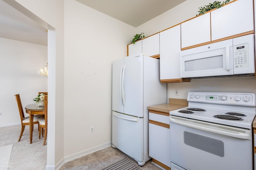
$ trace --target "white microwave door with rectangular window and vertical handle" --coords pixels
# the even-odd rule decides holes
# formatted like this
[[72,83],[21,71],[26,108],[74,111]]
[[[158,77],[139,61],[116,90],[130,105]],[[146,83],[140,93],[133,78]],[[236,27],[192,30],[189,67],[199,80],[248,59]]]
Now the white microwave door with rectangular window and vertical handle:
[[228,39],[180,51],[180,77],[233,75],[232,46],[232,39]]

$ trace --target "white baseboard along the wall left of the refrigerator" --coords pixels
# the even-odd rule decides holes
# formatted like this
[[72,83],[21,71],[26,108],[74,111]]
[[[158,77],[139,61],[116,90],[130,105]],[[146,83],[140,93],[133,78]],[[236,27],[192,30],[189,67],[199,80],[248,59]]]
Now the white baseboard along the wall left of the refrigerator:
[[[112,141],[104,143],[102,145],[98,145],[96,147],[90,148],[90,149],[86,149],[86,150],[82,150],[80,152],[76,152],[74,154],[70,154],[68,156],[65,156],[64,158],[62,158],[55,166],[55,168],[58,170],[60,169],[66,162],[70,162],[72,160],[75,160],[77,158],[81,158],[83,156],[86,156],[88,154],[91,154],[93,152],[97,152],[98,150],[102,150],[105,149],[107,147],[111,147],[112,146]],[[47,170],[52,170],[52,169],[47,169]]]

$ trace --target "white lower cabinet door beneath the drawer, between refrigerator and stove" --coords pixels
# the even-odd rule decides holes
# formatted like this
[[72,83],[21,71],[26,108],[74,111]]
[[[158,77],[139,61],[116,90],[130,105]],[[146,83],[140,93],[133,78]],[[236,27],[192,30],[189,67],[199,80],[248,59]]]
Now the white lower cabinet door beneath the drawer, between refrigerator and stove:
[[149,156],[171,167],[169,128],[149,123]]

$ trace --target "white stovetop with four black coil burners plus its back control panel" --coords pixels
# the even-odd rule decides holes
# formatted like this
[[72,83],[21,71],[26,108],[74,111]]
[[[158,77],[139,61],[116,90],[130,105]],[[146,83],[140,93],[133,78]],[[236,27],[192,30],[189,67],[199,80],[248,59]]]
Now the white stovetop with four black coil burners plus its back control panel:
[[[252,128],[252,122],[256,115],[255,94],[189,92],[187,100],[188,107],[170,111],[170,115],[246,129]],[[216,115],[221,119],[216,118]],[[232,119],[227,120],[226,118]]]

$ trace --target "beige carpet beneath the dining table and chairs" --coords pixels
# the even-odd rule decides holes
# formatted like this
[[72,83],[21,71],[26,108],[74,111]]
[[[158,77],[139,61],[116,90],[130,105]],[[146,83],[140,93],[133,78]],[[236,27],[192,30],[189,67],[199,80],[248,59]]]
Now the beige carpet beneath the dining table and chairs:
[[0,147],[12,145],[9,170],[45,170],[47,145],[39,139],[38,126],[34,125],[33,141],[30,144],[29,126],[25,127],[20,142],[20,125],[0,128]]

